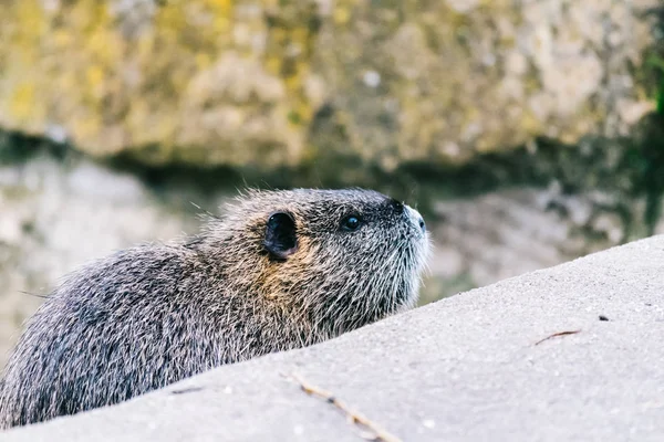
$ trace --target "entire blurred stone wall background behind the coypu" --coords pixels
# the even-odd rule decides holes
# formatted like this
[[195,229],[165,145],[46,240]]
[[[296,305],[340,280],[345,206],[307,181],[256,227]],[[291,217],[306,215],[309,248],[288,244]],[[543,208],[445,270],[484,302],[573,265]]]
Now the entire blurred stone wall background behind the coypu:
[[59,278],[237,189],[417,207],[422,304],[664,233],[658,0],[2,0],[0,366]]

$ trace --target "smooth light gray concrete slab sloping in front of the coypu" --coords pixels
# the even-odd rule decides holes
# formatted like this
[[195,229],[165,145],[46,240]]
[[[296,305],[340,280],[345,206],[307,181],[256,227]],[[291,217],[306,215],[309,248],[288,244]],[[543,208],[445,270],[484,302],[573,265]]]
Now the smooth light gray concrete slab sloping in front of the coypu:
[[[567,330],[580,332],[536,344]],[[404,441],[662,441],[664,236],[0,440],[367,436],[293,372]]]

